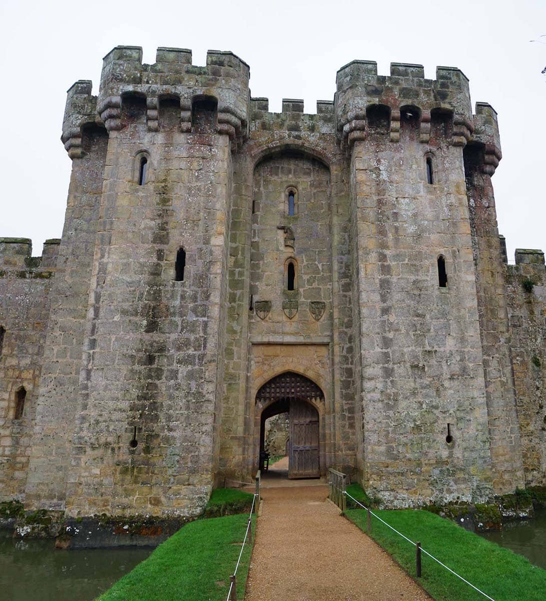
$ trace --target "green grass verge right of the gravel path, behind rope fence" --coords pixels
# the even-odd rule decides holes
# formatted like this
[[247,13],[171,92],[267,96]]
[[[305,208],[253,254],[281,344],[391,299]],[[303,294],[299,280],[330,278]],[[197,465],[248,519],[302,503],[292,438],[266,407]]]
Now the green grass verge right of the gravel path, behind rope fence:
[[[546,598],[546,570],[533,566],[509,549],[429,511],[374,510],[374,513],[411,540],[420,541],[423,549],[495,601],[544,601]],[[345,516],[366,532],[366,511],[349,509]],[[415,577],[413,545],[373,516],[371,536]],[[416,580],[436,601],[485,600],[425,554],[422,554],[422,577]]]

